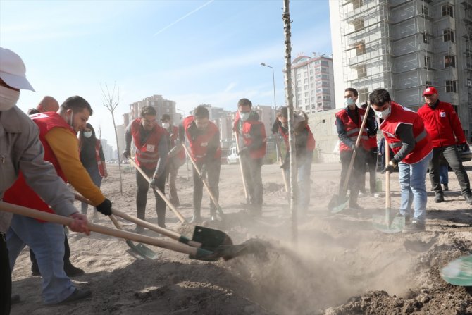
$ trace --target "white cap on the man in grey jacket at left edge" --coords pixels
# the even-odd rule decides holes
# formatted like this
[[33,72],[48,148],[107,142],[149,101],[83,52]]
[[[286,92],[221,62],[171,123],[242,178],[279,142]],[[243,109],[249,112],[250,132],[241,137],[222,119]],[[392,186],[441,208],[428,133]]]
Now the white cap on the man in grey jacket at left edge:
[[35,91],[26,79],[25,63],[10,49],[0,47],[0,78],[15,89]]

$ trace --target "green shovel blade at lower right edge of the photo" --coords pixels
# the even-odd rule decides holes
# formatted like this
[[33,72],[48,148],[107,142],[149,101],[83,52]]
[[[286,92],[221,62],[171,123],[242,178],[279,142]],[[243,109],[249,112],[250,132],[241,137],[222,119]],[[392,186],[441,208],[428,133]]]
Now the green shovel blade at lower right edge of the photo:
[[472,255],[451,261],[441,269],[440,275],[452,285],[472,286]]

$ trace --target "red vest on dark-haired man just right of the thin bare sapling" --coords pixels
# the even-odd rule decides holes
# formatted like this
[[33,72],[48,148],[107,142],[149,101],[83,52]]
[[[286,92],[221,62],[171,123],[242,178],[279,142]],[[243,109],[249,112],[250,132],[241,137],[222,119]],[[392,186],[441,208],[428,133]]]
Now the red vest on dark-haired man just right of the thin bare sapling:
[[153,169],[157,166],[159,160],[159,152],[157,147],[161,141],[162,135],[166,134],[166,130],[159,125],[154,125],[146,142],[141,143],[141,118],[136,118],[131,123],[132,141],[135,144],[136,156],[135,162],[139,167]]

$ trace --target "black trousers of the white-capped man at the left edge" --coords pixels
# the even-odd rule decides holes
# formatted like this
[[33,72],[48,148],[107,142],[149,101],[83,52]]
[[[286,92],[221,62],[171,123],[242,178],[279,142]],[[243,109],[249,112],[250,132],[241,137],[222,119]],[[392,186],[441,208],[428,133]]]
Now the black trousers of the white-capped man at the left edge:
[[10,314],[11,271],[6,247],[6,235],[0,233],[0,314]]

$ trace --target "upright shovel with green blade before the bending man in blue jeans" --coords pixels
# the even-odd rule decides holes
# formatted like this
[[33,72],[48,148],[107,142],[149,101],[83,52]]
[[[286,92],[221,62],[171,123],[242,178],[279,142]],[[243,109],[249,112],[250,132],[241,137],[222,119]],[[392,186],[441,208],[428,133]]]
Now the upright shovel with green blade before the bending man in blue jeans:
[[[385,163],[390,161],[390,150],[385,150]],[[383,233],[399,233],[405,226],[404,216],[395,216],[392,218],[390,214],[390,172],[385,172],[385,216],[373,215],[372,225],[375,230]]]

